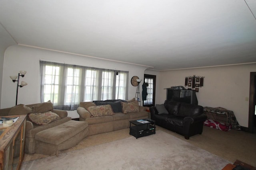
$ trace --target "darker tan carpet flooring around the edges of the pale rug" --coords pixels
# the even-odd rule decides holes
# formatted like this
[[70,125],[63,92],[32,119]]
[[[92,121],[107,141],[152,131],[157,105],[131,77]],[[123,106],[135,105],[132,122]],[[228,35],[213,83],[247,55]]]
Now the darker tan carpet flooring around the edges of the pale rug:
[[[256,133],[252,134],[236,130],[224,132],[204,126],[202,135],[195,135],[190,137],[189,140],[186,140],[183,136],[162,127],[157,126],[156,130],[164,131],[231,162],[235,162],[238,159],[252,166],[256,166]],[[78,145],[68,150],[63,150],[61,153],[100,145],[103,143],[109,143],[111,141],[128,137],[130,137],[129,129],[92,135],[86,137],[84,140],[78,143]],[[25,154],[24,162],[45,157],[48,156],[42,154]]]

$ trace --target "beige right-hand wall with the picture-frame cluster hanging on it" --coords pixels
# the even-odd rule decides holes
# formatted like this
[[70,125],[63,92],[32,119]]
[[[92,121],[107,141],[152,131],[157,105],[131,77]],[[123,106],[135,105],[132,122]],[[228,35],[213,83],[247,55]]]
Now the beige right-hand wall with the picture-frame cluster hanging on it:
[[249,98],[250,72],[256,72],[256,64],[162,71],[157,77],[156,104],[166,99],[164,88],[184,86],[186,76],[205,76],[204,86],[196,94],[198,105],[232,110],[238,123],[248,127],[249,102],[246,98]]

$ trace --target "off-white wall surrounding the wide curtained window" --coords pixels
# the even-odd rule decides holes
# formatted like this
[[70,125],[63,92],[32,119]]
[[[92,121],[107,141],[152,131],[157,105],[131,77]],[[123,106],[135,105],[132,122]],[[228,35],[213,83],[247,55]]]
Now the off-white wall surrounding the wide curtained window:
[[4,55],[1,94],[2,102],[0,108],[12,107],[15,105],[17,82],[13,83],[9,76],[18,75],[20,70],[27,71],[27,74],[23,78],[20,77],[20,81],[25,81],[28,85],[19,88],[18,104],[33,104],[40,102],[40,59],[96,68],[129,71],[128,99],[134,98],[136,93],[136,87],[131,85],[130,79],[132,76],[142,78],[144,76],[144,70],[148,68],[134,64],[118,63],[20,45],[10,46],[6,49]]

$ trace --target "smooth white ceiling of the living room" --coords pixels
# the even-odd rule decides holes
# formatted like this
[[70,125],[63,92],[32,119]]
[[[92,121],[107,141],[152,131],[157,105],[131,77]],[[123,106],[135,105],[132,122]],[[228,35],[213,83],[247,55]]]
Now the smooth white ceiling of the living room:
[[255,16],[256,0],[0,0],[20,45],[156,70],[256,62]]

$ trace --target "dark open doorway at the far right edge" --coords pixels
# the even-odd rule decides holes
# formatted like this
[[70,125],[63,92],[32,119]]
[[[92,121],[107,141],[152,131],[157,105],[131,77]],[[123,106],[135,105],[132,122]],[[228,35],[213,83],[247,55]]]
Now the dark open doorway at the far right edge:
[[250,96],[249,96],[249,117],[248,131],[256,133],[256,72],[250,72]]

